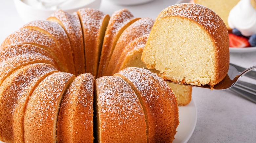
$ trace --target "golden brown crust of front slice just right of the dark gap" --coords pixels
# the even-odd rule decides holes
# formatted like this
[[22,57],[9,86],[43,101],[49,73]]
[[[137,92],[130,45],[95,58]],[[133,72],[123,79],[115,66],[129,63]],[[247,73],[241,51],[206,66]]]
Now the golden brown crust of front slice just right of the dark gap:
[[99,142],[147,142],[145,115],[133,89],[120,77],[96,79]]

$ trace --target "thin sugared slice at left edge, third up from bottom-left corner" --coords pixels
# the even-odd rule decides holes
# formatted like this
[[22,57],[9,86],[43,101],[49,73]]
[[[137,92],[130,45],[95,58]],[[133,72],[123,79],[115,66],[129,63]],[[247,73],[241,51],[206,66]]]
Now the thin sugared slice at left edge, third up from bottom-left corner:
[[13,58],[15,56],[21,55],[41,55],[46,56],[53,60],[53,63],[57,70],[60,70],[58,63],[55,61],[55,58],[46,50],[30,44],[13,44],[7,47],[4,47],[0,50],[0,63]]

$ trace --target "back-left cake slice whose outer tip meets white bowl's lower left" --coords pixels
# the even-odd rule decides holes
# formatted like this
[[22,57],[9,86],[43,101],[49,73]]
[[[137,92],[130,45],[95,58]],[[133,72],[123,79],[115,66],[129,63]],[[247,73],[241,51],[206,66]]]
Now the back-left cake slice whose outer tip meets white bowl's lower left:
[[65,30],[59,24],[45,20],[37,20],[25,24],[22,28],[36,30],[51,37],[62,52],[65,63],[68,65],[69,73],[75,74],[73,51],[71,50],[71,45]]

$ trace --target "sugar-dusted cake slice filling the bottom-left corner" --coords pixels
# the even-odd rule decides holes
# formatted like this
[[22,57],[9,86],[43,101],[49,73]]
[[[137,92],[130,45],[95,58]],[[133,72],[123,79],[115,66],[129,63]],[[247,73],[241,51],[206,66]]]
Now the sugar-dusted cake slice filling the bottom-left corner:
[[34,88],[46,76],[58,72],[49,64],[36,63],[13,72],[0,87],[0,137],[4,142],[24,142],[23,115]]

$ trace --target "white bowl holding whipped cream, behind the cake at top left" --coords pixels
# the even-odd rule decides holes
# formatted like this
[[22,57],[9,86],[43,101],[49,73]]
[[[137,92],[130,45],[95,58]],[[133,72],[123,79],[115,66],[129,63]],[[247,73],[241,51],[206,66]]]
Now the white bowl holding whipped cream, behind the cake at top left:
[[[98,9],[100,6],[100,2],[101,0],[92,0],[90,3],[87,3],[86,5],[79,6],[76,8],[71,8],[71,9],[66,8],[62,10],[72,13],[77,11],[80,8]],[[34,20],[45,20],[55,11],[52,9],[35,8],[24,3],[22,0],[14,0],[14,4],[18,14],[20,15],[20,17],[23,19],[25,23],[28,23]]]

